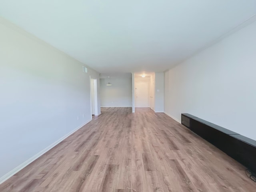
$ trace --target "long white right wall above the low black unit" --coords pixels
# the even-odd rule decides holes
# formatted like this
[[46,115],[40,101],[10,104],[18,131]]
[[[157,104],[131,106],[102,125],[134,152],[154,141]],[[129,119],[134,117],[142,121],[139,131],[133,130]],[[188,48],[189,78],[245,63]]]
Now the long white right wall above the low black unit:
[[256,140],[256,22],[165,72],[164,110]]

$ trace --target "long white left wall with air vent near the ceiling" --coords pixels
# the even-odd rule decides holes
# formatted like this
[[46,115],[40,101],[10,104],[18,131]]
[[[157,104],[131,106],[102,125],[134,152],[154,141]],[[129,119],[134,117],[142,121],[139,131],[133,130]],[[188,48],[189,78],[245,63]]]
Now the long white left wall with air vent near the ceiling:
[[90,76],[99,78],[0,18],[0,182],[91,119]]

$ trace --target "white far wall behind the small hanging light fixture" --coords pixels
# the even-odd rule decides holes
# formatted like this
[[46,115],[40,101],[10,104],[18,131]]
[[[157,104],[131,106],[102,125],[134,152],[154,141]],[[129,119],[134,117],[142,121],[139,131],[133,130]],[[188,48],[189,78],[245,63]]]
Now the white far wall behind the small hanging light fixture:
[[132,78],[100,79],[100,102],[102,107],[132,106]]

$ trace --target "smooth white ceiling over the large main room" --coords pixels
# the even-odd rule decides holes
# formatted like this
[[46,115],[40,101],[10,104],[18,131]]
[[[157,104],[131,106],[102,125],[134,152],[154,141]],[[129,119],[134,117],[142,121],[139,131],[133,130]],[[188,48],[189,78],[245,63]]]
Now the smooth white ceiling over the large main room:
[[101,73],[161,72],[256,13],[256,0],[0,0],[0,16]]

